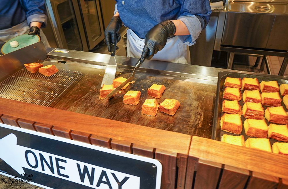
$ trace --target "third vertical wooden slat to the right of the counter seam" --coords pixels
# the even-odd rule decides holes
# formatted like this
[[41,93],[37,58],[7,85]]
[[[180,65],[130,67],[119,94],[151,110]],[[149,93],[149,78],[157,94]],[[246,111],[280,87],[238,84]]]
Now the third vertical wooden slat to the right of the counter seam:
[[218,189],[243,189],[249,178],[249,172],[245,169],[225,165]]

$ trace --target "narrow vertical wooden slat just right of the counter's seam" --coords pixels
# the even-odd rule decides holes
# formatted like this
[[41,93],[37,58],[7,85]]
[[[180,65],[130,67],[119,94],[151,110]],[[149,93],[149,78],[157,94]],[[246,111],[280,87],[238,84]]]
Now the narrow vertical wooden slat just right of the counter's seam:
[[188,156],[187,171],[185,179],[185,189],[191,189],[194,179],[194,171],[196,171],[196,166],[198,166],[199,158]]

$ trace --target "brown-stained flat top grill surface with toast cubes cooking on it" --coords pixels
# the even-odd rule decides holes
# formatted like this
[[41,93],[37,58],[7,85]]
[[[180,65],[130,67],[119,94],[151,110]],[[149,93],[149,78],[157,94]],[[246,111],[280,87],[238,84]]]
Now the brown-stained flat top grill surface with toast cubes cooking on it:
[[[69,63],[69,62],[68,62]],[[161,75],[136,70],[133,84],[129,84],[121,93],[115,94],[111,99],[99,99],[99,91],[105,69],[83,67],[78,65],[54,63],[56,67],[81,71],[83,78],[75,82],[74,87],[69,87],[65,94],[52,103],[52,107],[80,114],[117,120],[126,123],[138,124],[177,133],[196,135],[211,138],[213,125],[213,109],[216,96],[215,84],[203,84],[177,80],[173,75]],[[131,69],[119,69],[115,78],[122,76],[129,78]],[[163,77],[162,77],[163,76]],[[163,84],[166,90],[158,104],[166,98],[176,99],[180,107],[174,116],[158,110],[156,116],[141,114],[141,109],[146,99],[155,99],[147,94],[147,89],[152,84]],[[141,97],[138,105],[123,103],[124,94],[128,90],[140,90]],[[108,124],[108,123],[107,123]]]

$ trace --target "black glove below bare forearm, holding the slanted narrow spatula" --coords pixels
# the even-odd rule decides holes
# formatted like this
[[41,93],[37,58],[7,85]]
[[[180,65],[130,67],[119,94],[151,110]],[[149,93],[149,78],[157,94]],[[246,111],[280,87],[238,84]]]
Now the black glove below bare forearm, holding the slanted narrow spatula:
[[141,55],[141,62],[145,58],[151,59],[154,54],[162,50],[166,45],[167,39],[176,32],[175,24],[171,20],[160,22],[151,28],[145,35],[145,45]]

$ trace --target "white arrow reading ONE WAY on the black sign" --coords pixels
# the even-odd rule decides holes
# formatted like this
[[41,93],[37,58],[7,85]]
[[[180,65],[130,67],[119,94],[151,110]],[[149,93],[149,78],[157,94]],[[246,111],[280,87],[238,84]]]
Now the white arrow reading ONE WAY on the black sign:
[[17,145],[12,133],[0,139],[0,146],[10,146],[9,153],[0,149],[0,158],[20,175],[24,167],[91,188],[140,188],[140,177]]

